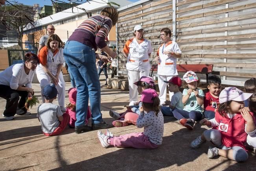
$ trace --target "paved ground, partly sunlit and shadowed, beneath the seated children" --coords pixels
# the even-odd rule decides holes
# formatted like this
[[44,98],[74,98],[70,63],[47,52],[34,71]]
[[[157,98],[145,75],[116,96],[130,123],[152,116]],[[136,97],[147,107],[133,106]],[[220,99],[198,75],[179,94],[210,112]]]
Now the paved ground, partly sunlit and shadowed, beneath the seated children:
[[[101,81],[101,85],[105,82]],[[36,96],[40,97],[38,84],[33,84]],[[70,83],[66,83],[66,90]],[[129,92],[101,89],[101,110],[107,122],[113,119],[109,109],[124,111]],[[54,103],[57,104],[57,101]],[[0,113],[5,107],[0,99]],[[68,96],[66,96],[68,104]],[[196,124],[193,131],[179,125],[172,117],[165,117],[163,144],[154,150],[101,147],[97,131],[75,134],[66,128],[59,136],[46,137],[36,118],[37,107],[31,116],[16,116],[6,121],[0,116],[0,170],[255,170],[256,158],[249,152],[249,160],[237,163],[223,157],[208,159],[206,152],[210,143],[197,150],[189,143],[206,127]],[[111,128],[115,135],[143,131],[134,125]]]

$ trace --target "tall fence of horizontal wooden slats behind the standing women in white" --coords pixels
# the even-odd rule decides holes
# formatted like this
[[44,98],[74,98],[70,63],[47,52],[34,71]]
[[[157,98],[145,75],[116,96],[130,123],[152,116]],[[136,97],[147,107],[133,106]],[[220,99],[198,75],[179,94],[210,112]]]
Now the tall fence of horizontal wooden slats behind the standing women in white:
[[[240,85],[256,77],[256,2],[254,0],[141,1],[120,9],[118,21],[118,73],[126,74],[123,46],[136,24],[145,29],[154,53],[162,44],[160,29],[175,29],[182,50],[178,64],[214,64],[224,84]],[[174,6],[175,5],[175,6]],[[173,13],[173,8],[176,14]],[[175,12],[174,11],[174,12]],[[176,22],[173,22],[173,15]]]

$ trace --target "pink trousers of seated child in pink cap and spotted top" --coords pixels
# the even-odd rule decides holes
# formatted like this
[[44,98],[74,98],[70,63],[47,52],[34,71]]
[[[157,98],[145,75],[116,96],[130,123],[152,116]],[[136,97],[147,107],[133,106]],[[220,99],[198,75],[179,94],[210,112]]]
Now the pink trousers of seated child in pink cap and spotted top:
[[158,145],[151,143],[143,132],[114,136],[109,140],[114,147],[133,147],[136,149],[156,149],[158,147]]

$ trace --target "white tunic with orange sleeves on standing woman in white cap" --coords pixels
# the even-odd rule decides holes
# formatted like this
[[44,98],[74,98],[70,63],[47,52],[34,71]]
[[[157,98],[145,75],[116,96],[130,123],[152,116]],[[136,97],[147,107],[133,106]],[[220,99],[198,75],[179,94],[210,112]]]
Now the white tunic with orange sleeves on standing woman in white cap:
[[153,51],[151,42],[147,39],[142,39],[140,43],[135,38],[128,40],[125,43],[123,51],[127,54],[126,69],[132,71],[147,71],[150,70],[149,53]]

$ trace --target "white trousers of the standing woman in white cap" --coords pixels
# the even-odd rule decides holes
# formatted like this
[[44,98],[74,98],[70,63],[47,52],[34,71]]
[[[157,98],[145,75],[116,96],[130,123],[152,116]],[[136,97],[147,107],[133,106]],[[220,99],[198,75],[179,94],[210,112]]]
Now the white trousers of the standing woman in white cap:
[[129,96],[130,96],[130,104],[129,106],[134,105],[138,101],[138,86],[133,83],[140,80],[142,76],[149,76],[149,70],[147,71],[132,71],[127,70],[128,81],[129,81]]

